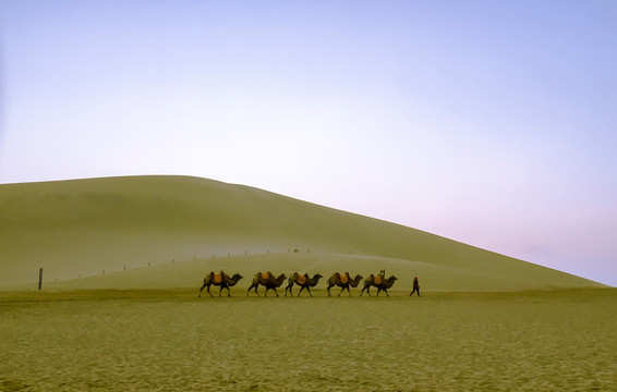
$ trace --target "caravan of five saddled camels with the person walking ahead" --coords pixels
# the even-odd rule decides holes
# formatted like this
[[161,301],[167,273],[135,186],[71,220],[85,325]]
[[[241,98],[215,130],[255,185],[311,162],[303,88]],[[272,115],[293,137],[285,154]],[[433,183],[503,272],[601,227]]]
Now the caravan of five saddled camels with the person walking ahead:
[[[259,285],[263,285],[266,289],[264,296],[268,296],[268,291],[274,290],[276,296],[278,297],[279,295],[277,289],[280,287],[287,280],[287,286],[285,287],[285,296],[287,296],[288,292],[290,296],[293,296],[291,290],[293,289],[294,285],[298,285],[300,286],[300,291],[298,292],[297,296],[300,296],[300,294],[302,294],[302,291],[306,290],[308,295],[313,297],[313,293],[311,293],[311,287],[316,286],[317,283],[319,282],[319,279],[322,278],[324,277],[319,273],[315,273],[313,278],[311,278],[307,273],[300,274],[298,272],[293,272],[288,278],[285,273],[281,273],[280,275],[277,277],[270,271],[257,272],[253,277],[249,290],[246,290],[246,296],[249,296],[252,290],[255,292],[257,296],[259,296],[257,289],[259,287]],[[223,289],[227,289],[227,296],[231,296],[230,287],[234,286],[241,279],[242,275],[240,273],[235,273],[232,277],[230,277],[225,271],[220,271],[218,273],[213,271],[208,273],[206,278],[204,278],[204,284],[199,289],[198,296],[199,297],[202,296],[202,291],[204,290],[204,287],[207,289],[206,291],[209,294],[209,296],[213,296],[213,294],[210,293],[210,285],[219,286],[218,296],[221,296]],[[342,292],[346,290],[349,296],[351,296],[350,287],[353,289],[358,287],[363,277],[360,274],[356,274],[353,279],[351,279],[349,272],[332,273],[331,277],[326,282],[327,283],[326,290],[328,291],[328,296],[331,296],[330,289],[334,286],[341,287],[338,296],[340,296]],[[368,278],[364,280],[364,286],[360,292],[360,296],[364,294],[364,291],[366,291],[366,294],[368,294],[368,296],[372,296],[371,287],[377,287],[377,296],[379,296],[380,292],[385,292],[387,296],[390,296],[390,294],[388,294],[388,289],[390,289],[395,284],[397,279],[398,278],[395,275],[391,275],[388,279],[386,279],[385,270],[382,270],[376,275],[372,273]],[[411,292],[410,296],[414,292],[418,292],[418,296],[420,296],[420,285],[418,284],[418,277],[415,277],[415,279],[413,280],[413,291]]]

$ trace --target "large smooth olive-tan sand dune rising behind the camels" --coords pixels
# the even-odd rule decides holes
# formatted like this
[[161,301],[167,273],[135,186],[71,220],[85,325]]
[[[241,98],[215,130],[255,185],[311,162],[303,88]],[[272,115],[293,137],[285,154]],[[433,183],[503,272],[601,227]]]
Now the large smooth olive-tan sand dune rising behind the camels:
[[198,287],[220,269],[244,274],[238,287],[245,287],[259,270],[367,275],[384,268],[400,290],[414,275],[432,291],[602,286],[419,230],[196,177],[0,185],[0,219],[3,287],[33,286],[39,268],[45,286],[59,289]]

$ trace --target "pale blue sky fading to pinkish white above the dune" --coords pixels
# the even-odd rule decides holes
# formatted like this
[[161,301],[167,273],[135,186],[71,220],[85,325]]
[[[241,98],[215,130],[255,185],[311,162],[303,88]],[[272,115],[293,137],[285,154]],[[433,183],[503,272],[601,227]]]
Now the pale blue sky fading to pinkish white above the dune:
[[244,184],[617,285],[617,2],[0,1],[0,184]]

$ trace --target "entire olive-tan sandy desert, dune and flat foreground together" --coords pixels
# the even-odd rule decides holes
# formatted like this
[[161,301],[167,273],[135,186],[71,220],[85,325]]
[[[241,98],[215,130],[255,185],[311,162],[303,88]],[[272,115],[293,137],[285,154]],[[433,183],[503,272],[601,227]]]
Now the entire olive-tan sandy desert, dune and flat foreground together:
[[[617,390],[615,289],[416,229],[181,176],[0,185],[0,391]],[[247,297],[268,270],[324,278]]]

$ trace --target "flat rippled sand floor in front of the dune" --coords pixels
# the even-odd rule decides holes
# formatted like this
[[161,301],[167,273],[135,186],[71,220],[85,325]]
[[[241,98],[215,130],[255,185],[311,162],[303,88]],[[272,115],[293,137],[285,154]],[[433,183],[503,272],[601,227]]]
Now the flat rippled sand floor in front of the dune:
[[0,293],[0,390],[617,389],[614,289],[358,293]]

